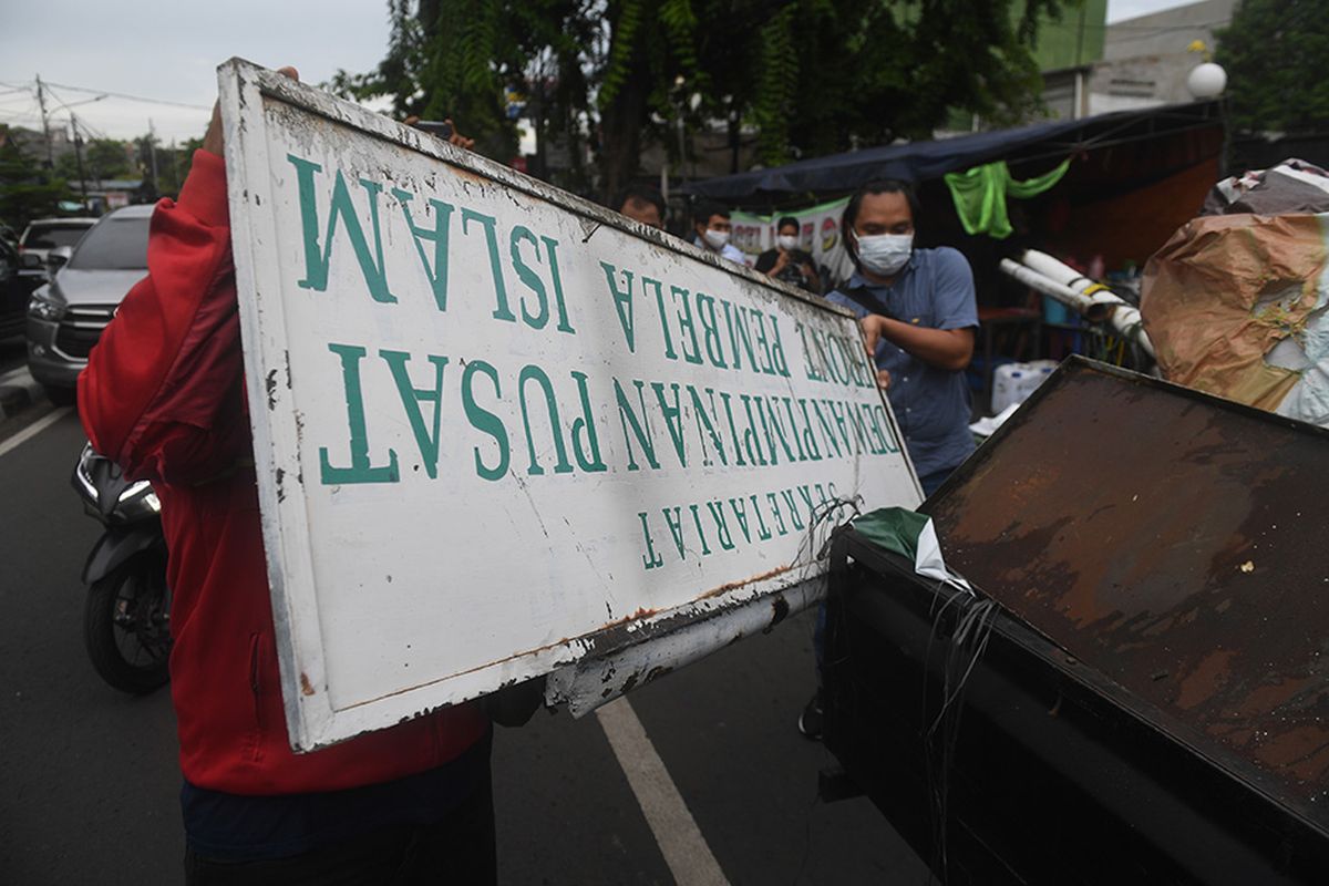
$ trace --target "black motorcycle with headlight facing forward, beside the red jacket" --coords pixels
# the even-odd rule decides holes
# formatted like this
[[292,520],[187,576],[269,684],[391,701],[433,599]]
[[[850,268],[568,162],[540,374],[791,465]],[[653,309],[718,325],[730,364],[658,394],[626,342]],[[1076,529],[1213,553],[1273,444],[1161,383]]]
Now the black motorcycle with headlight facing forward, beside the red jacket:
[[72,478],[84,510],[106,527],[88,554],[82,580],[84,642],[110,685],[144,695],[169,679],[170,588],[161,502],[146,480],[84,446]]

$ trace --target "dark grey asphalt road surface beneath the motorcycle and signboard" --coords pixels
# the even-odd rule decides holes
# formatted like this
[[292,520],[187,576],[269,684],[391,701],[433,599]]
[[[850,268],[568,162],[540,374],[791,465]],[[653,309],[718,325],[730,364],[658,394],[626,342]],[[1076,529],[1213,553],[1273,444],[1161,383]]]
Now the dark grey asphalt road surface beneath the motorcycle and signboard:
[[[48,412],[0,422],[0,446]],[[80,570],[100,526],[69,486],[81,444],[62,409],[0,456],[0,883],[174,883],[183,837],[169,695],[110,689],[82,648]],[[926,883],[867,800],[816,800],[832,761],[795,729],[811,662],[804,615],[630,704],[723,879]],[[690,882],[675,881],[597,716],[537,712],[500,729],[493,769],[500,882]]]

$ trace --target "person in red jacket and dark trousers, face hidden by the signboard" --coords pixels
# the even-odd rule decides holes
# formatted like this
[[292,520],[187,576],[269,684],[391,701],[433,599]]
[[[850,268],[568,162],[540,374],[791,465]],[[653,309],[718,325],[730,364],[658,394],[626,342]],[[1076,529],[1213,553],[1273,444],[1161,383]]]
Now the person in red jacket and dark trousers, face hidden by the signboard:
[[78,379],[93,446],[161,499],[187,882],[493,882],[478,707],[314,753],[287,743],[221,154],[214,110],[153,215],[148,278]]

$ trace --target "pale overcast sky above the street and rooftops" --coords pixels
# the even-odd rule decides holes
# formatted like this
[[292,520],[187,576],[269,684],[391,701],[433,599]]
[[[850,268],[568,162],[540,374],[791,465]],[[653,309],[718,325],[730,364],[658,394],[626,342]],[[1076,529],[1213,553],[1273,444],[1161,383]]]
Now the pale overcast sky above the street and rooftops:
[[[133,138],[152,120],[165,143],[202,134],[215,68],[231,56],[270,68],[294,64],[302,80],[320,82],[338,68],[372,69],[388,41],[384,0],[41,0],[21,12],[11,0],[0,5],[0,122],[41,126],[32,92],[40,74],[51,84],[52,125],[68,126],[77,114],[96,135]],[[1107,20],[1177,5],[1108,0]],[[104,92],[177,104],[117,96],[77,104]]]

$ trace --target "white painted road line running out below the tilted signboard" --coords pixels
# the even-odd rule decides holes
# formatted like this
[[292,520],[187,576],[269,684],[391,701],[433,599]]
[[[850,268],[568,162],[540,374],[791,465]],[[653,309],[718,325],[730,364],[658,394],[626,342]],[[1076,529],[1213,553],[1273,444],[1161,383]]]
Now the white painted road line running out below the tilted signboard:
[[679,886],[728,886],[730,881],[711,854],[702,829],[668,777],[664,761],[655,752],[633,705],[627,699],[618,699],[597,708],[595,719],[637,794],[637,805],[655,834],[655,843],[674,881]]

